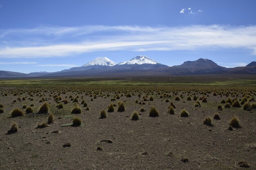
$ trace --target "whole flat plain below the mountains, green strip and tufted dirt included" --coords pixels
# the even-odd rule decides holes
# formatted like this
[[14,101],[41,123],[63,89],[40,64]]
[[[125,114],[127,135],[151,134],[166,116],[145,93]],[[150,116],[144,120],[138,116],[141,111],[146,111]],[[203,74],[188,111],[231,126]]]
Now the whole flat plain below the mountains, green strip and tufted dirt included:
[[[214,75],[0,80],[0,169],[254,170],[255,81]],[[124,111],[117,111],[119,101]],[[236,101],[240,107],[232,106]],[[175,114],[170,114],[171,102]],[[38,114],[44,103],[49,110]],[[108,112],[110,104],[114,112]],[[152,106],[159,116],[149,116]],[[26,113],[28,107],[32,113]],[[81,113],[71,113],[74,107]],[[15,108],[25,114],[11,117]],[[103,109],[106,118],[100,119]],[[188,117],[181,117],[182,109]],[[134,111],[136,121],[131,120]],[[54,122],[37,128],[50,113]],[[220,119],[213,119],[216,113]],[[229,126],[234,116],[239,126]],[[74,117],[81,126],[68,126]],[[18,131],[8,135],[13,122]]]

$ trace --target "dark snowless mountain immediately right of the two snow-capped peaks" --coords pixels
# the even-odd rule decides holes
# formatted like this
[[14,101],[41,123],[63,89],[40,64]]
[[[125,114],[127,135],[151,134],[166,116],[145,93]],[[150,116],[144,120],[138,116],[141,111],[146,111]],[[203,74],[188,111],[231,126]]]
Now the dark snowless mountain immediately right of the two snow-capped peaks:
[[179,66],[172,66],[168,69],[171,75],[198,75],[208,73],[218,73],[228,71],[229,68],[218,66],[215,62],[208,59],[198,59],[187,61]]

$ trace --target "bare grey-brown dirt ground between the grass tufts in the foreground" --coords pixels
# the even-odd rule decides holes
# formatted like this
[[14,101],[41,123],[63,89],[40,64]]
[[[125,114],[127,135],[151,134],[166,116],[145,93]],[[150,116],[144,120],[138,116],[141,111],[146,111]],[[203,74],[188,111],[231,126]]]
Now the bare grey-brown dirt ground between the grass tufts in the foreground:
[[[207,93],[207,103],[201,102],[201,107],[195,107],[193,93],[201,97],[198,87],[185,91],[186,88],[94,88],[86,87],[1,87],[0,104],[4,105],[4,113],[0,113],[0,169],[1,170],[255,170],[256,169],[256,109],[244,111],[243,108],[223,108],[217,110],[222,99],[235,98]],[[197,89],[197,91],[196,91]],[[209,88],[210,89],[210,88]],[[238,99],[243,93],[251,96],[256,89],[223,88],[221,91],[236,91]],[[94,90],[94,91],[93,91]],[[218,88],[217,88],[218,90]],[[143,96],[150,91],[147,99],[153,96],[153,101],[145,101],[145,105],[135,104],[137,99],[143,101]],[[167,91],[167,93],[166,93]],[[184,92],[182,94],[182,91]],[[190,91],[190,93],[189,93]],[[18,93],[14,95],[14,93]],[[30,94],[29,94],[30,92]],[[94,93],[98,93],[91,101]],[[157,94],[157,93],[161,94]],[[174,93],[177,92],[177,95]],[[4,94],[7,93],[7,96]],[[52,94],[51,94],[52,93]],[[58,95],[58,93],[60,93]],[[63,94],[65,93],[65,94]],[[87,93],[87,95],[86,95]],[[101,94],[102,93],[102,94]],[[120,99],[111,102],[115,93]],[[134,93],[125,97],[125,93]],[[141,97],[138,94],[141,93]],[[171,97],[160,98],[164,93]],[[187,101],[191,94],[192,100]],[[107,97],[107,94],[109,96]],[[121,96],[123,94],[124,96]],[[180,101],[175,96],[183,95]],[[33,96],[30,96],[33,95]],[[40,96],[41,95],[41,96]],[[58,109],[54,100],[58,95],[69,101]],[[71,114],[74,103],[69,96],[79,96],[81,114]],[[92,97],[90,97],[92,95]],[[207,96],[204,95],[204,96]],[[65,98],[67,96],[67,98]],[[82,97],[83,96],[83,97]],[[25,101],[17,98],[26,97]],[[54,123],[46,128],[36,128],[38,123],[47,122],[49,113],[39,115],[37,110],[44,97],[50,104],[50,113],[54,114]],[[105,98],[106,97],[106,98]],[[33,98],[31,101],[29,98]],[[85,110],[82,100],[90,110]],[[170,102],[175,104],[175,114],[168,113]],[[13,100],[17,100],[13,102]],[[61,100],[61,101],[62,101]],[[60,102],[61,102],[60,101]],[[107,113],[105,119],[99,119],[99,113],[109,104],[124,101],[126,111]],[[254,103],[255,101],[252,101]],[[34,113],[21,117],[10,117],[13,108],[22,109],[22,105],[34,104]],[[221,104],[222,107],[224,104]],[[159,117],[149,117],[151,106],[159,111]],[[145,112],[140,112],[144,107]],[[189,117],[180,117],[180,110],[185,108]],[[139,120],[132,121],[133,111],[140,113]],[[220,120],[213,119],[214,113],[219,113]],[[69,115],[69,116],[67,116]],[[228,130],[231,117],[240,119],[241,128]],[[83,126],[61,127],[72,122],[72,116],[80,117]],[[204,118],[210,116],[213,126],[203,124]],[[19,126],[18,132],[7,135],[13,122]],[[53,131],[57,131],[54,133]],[[110,139],[112,143],[107,142]],[[70,143],[70,147],[63,147]],[[102,150],[97,150],[100,147]],[[99,149],[99,148],[98,148]],[[187,159],[187,161],[185,160]],[[182,161],[184,160],[184,161]],[[239,166],[240,161],[246,161],[249,168]]]

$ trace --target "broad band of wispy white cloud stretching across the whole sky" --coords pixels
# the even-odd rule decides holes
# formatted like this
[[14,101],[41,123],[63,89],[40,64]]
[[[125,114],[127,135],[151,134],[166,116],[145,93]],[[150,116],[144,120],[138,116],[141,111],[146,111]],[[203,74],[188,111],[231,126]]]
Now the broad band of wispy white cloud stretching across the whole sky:
[[[22,38],[13,38],[17,34]],[[53,26],[0,30],[1,41],[5,42],[0,45],[1,58],[63,57],[115,50],[177,51],[223,48],[248,49],[256,55],[256,25]]]

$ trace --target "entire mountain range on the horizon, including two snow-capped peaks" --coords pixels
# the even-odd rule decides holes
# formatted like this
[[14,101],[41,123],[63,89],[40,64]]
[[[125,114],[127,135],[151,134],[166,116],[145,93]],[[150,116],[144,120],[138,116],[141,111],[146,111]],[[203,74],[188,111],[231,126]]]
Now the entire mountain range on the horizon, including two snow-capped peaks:
[[256,74],[256,62],[247,66],[226,68],[208,59],[186,61],[178,66],[166,66],[144,55],[139,55],[126,62],[115,63],[107,57],[97,57],[80,67],[47,73],[18,73],[0,71],[0,78],[16,77],[135,77],[168,75],[202,75],[202,74]]

